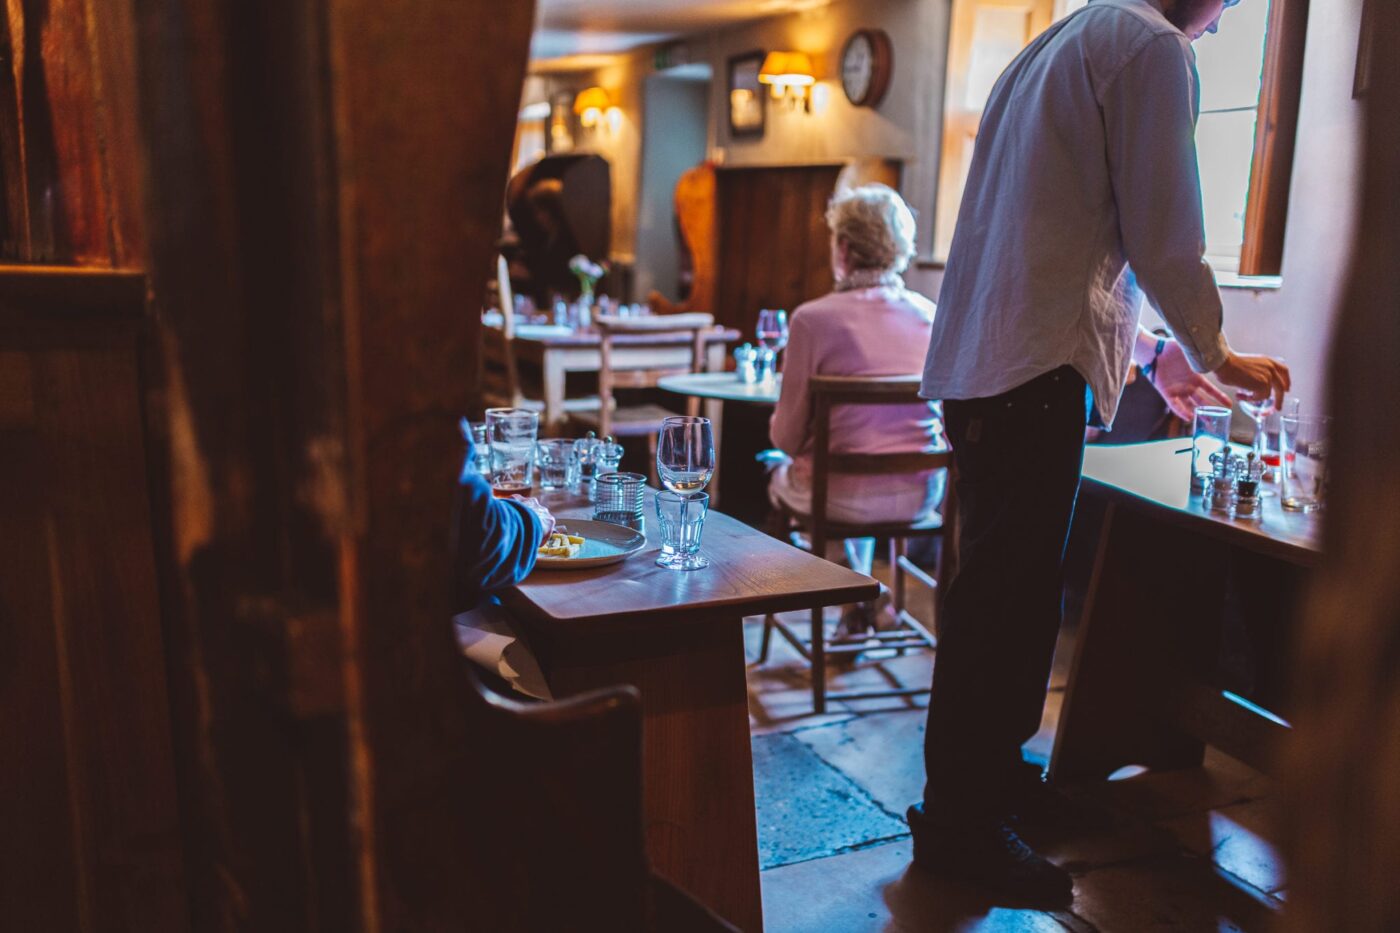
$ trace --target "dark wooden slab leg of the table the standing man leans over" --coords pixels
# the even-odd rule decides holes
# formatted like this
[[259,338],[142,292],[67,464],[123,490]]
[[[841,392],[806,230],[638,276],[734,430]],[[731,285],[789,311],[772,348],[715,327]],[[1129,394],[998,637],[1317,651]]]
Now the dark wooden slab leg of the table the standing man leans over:
[[1163,698],[1219,650],[1225,546],[1109,504],[1056,728],[1050,779],[1124,765],[1189,768],[1204,744],[1163,721]]

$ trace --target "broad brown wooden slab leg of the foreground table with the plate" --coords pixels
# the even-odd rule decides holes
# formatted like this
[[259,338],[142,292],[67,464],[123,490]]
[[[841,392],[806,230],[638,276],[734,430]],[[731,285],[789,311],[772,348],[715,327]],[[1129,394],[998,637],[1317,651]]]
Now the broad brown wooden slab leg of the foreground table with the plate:
[[763,929],[742,619],[538,643],[556,696],[641,691],[652,869],[746,933]]

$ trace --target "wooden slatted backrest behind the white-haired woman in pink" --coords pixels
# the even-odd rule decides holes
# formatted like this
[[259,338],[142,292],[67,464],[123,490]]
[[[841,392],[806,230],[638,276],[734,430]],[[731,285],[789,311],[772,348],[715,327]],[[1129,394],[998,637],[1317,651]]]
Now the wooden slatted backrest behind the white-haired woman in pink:
[[[832,451],[832,409],[837,405],[920,405],[920,375],[815,375],[808,384],[813,413],[812,451],[812,538],[826,524],[826,497],[833,475],[897,476],[952,466],[952,454],[910,451],[899,454],[837,454]],[[944,502],[944,521],[949,520],[952,483]]]

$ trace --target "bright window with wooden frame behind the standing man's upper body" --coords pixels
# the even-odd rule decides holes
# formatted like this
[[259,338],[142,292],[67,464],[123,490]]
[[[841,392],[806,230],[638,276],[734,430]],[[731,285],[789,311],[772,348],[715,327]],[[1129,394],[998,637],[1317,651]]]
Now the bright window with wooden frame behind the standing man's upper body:
[[[955,0],[934,255],[952,244],[977,122],[997,74],[1088,0]],[[1205,251],[1217,269],[1278,275],[1302,83],[1305,0],[1253,0],[1196,43]],[[988,78],[990,74],[990,78]]]

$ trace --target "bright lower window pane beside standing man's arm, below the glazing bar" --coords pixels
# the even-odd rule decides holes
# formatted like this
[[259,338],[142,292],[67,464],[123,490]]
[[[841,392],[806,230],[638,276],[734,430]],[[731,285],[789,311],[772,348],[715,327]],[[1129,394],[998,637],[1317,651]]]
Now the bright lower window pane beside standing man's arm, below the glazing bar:
[[1249,171],[1254,161],[1254,111],[1203,113],[1196,147],[1205,202],[1205,252],[1238,261],[1245,242]]

